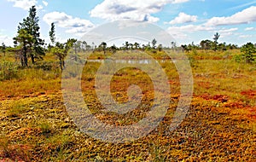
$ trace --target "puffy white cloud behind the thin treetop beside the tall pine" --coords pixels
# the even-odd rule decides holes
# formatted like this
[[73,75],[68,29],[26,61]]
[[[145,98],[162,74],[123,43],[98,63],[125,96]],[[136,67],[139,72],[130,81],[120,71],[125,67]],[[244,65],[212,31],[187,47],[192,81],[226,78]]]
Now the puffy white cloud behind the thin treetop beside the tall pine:
[[44,14],[43,20],[48,25],[54,22],[56,26],[67,28],[66,32],[68,33],[84,33],[94,27],[90,20],[73,18],[73,16],[63,12],[51,12]]

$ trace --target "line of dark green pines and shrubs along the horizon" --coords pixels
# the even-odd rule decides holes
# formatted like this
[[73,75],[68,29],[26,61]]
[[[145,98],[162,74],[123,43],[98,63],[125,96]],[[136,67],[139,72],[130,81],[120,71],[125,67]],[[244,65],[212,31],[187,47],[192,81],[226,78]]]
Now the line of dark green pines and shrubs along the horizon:
[[[56,55],[56,58],[60,62],[61,70],[65,67],[64,59],[67,56],[67,52],[73,49],[75,54],[84,52],[86,50],[102,51],[104,55],[106,52],[115,53],[117,50],[149,50],[153,52],[161,51],[163,49],[182,49],[185,52],[190,50],[228,50],[228,49],[241,49],[243,58],[246,62],[252,63],[255,59],[256,47],[253,43],[247,43],[238,47],[236,44],[231,43],[218,43],[219,34],[214,34],[212,40],[202,40],[200,44],[189,43],[183,44],[177,47],[177,43],[171,42],[169,47],[163,47],[162,44],[158,44],[154,38],[147,44],[129,43],[125,42],[122,46],[117,47],[114,44],[109,46],[106,42],[102,42],[99,45],[95,43],[87,43],[86,41],[78,41],[74,38],[67,39],[66,43],[55,42],[55,24],[52,23],[49,29],[49,38],[51,43],[44,43],[44,40],[40,38],[40,26],[38,24],[39,18],[37,16],[37,10],[35,6],[29,9],[29,15],[19,23],[17,35],[14,38],[14,47],[6,47],[4,43],[0,46],[0,49],[5,55],[7,51],[15,53],[16,60],[20,60],[22,67],[28,67],[28,61],[35,64],[36,61],[43,60],[44,55],[49,52]],[[18,59],[17,59],[18,58]]]

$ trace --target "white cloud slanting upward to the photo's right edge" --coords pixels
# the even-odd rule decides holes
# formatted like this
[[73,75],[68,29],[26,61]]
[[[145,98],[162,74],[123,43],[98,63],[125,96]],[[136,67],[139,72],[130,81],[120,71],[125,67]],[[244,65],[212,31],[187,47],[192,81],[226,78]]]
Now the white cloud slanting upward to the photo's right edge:
[[244,9],[230,17],[213,17],[208,20],[207,26],[229,26],[237,24],[248,24],[256,21],[256,7]]

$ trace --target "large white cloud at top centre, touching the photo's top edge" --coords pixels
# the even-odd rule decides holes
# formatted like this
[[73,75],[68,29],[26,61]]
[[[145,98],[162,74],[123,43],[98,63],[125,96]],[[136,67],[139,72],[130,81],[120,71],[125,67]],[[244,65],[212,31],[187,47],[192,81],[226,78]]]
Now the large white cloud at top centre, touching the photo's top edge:
[[104,0],[90,11],[91,17],[106,20],[139,20],[156,22],[151,14],[160,12],[168,3],[185,3],[189,0]]

